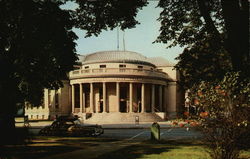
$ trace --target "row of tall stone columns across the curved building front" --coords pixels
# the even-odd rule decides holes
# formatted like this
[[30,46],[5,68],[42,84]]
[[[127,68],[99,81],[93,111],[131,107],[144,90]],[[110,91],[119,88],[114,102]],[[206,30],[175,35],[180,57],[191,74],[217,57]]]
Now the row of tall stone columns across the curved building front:
[[[120,99],[120,84],[121,83],[124,83],[124,82],[116,82],[116,88],[115,88],[115,93],[116,93],[116,100],[115,101],[112,101],[112,103],[115,102],[115,105],[117,107],[117,112],[120,112],[120,104],[121,104],[121,99]],[[89,85],[89,97],[86,96],[86,92],[84,92],[84,89],[83,89],[83,84],[88,84]],[[94,98],[94,84],[96,83],[78,83],[78,84],[72,84],[71,85],[71,101],[72,101],[72,113],[108,113],[109,112],[109,109],[108,109],[108,106],[109,106],[109,103],[107,102],[110,102],[110,101],[107,101],[107,83],[106,82],[102,82],[102,83],[99,83],[102,85],[102,111],[100,110],[100,105],[97,105],[97,104],[94,104],[95,102],[95,98]],[[133,87],[135,84],[138,84],[138,83],[128,83],[128,87],[129,87],[129,95],[128,95],[128,100],[127,100],[127,105],[128,105],[128,108],[127,108],[127,112],[128,113],[132,113],[134,112],[133,111],[133,96],[134,96],[134,93],[137,93],[137,92],[134,92],[133,90]],[[79,96],[76,97],[76,86],[79,86]],[[145,113],[146,112],[146,101],[145,101],[145,98],[146,98],[146,94],[145,94],[145,86],[146,84],[145,83],[140,83],[140,113]],[[150,112],[154,113],[154,112],[163,112],[164,111],[164,106],[166,105],[166,99],[164,98],[165,96],[165,85],[158,85],[158,93],[157,93],[157,99],[159,100],[157,103],[157,108],[156,108],[156,84],[149,84],[151,85],[151,93],[150,93]],[[77,86],[77,87],[78,87]],[[79,105],[77,106],[76,105],[76,98],[79,98]],[[88,98],[87,100],[89,100],[89,103],[88,103],[88,111],[86,110],[86,107],[87,107],[87,104],[86,104],[86,99],[85,98]],[[78,111],[76,111],[76,106],[78,109]]]

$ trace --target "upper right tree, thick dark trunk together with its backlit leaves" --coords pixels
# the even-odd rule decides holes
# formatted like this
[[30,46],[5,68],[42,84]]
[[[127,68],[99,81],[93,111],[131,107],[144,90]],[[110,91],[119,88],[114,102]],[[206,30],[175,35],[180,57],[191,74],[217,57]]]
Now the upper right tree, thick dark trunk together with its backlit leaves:
[[161,0],[161,33],[156,42],[172,41],[169,47],[178,44],[191,49],[210,39],[214,50],[223,47],[229,53],[234,70],[246,71],[250,60],[248,6],[246,0]]

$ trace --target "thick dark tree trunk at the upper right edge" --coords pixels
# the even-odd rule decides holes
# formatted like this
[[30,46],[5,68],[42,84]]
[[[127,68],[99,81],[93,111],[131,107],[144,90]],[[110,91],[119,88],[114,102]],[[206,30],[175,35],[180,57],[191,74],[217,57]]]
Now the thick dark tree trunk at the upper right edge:
[[240,71],[249,60],[249,2],[222,0],[226,28],[226,49],[231,55],[233,69]]

